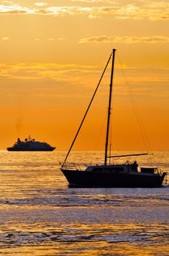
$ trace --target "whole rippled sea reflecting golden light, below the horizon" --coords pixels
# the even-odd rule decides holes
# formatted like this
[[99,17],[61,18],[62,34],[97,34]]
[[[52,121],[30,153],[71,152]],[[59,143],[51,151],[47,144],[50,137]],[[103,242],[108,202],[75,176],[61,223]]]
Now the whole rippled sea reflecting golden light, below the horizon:
[[[69,188],[65,157],[0,151],[0,255],[169,255],[169,179],[160,188]],[[102,159],[73,151],[68,162]],[[169,172],[169,151],[127,159]]]

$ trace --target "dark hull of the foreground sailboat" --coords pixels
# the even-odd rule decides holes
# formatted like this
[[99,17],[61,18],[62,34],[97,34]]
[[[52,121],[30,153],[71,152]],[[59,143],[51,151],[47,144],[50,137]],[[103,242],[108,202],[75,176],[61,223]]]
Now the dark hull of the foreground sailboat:
[[70,187],[161,187],[165,173],[103,173],[80,170],[64,170]]

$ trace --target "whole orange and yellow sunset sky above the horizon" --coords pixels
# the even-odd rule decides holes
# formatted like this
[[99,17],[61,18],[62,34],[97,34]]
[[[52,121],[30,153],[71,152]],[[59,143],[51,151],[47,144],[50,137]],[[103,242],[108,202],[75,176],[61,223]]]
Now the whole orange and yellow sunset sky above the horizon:
[[[169,1],[0,1],[0,149],[71,144],[112,48],[112,148],[169,150]],[[110,68],[74,149],[104,148]],[[141,126],[140,124],[140,126]],[[94,138],[95,137],[95,138]]]

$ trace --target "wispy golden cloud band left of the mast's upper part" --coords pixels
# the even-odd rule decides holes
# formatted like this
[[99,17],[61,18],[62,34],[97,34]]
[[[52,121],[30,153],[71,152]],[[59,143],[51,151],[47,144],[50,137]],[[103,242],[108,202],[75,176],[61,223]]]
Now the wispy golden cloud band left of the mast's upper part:
[[[100,74],[95,66],[82,66],[77,64],[0,64],[0,78],[17,80],[42,80],[68,81],[79,83],[80,79],[86,80],[91,73],[93,78]],[[99,76],[99,75],[98,75]],[[84,81],[85,83],[85,81]],[[81,81],[82,84],[82,81]]]

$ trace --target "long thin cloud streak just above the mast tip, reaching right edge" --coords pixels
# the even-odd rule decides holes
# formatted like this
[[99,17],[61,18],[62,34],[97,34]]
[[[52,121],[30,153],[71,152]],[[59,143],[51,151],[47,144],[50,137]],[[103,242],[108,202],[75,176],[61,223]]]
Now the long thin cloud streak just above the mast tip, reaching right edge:
[[152,36],[152,37],[118,37],[118,36],[98,36],[98,37],[86,37],[79,40],[79,43],[111,43],[111,42],[121,42],[121,43],[128,43],[128,44],[135,44],[135,43],[162,43],[162,42],[169,42],[169,37],[163,36]]

